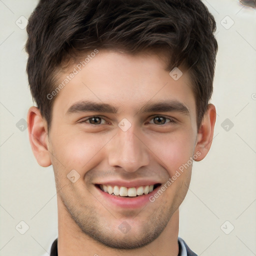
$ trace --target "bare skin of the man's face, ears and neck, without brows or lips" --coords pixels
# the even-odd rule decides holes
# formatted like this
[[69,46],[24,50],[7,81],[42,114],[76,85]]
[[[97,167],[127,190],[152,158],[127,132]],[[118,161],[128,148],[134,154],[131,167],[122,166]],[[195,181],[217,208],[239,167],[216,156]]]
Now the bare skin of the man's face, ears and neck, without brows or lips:
[[[59,82],[74,66],[59,74]],[[196,152],[200,155],[195,160],[205,157],[212,141],[215,107],[208,105],[197,129],[189,75],[180,70],[183,74],[175,81],[159,55],[100,50],[57,94],[49,133],[40,111],[29,108],[34,156],[41,166],[52,164],[54,170],[59,255],[178,254],[178,207],[188,190],[192,164],[143,208],[109,205],[94,184],[109,178],[150,178],[163,184]],[[66,114],[79,100],[108,103],[118,113]],[[143,104],[161,100],[181,102],[189,113],[138,112]],[[85,120],[95,115],[103,118],[99,124]],[[166,119],[162,124],[155,116]],[[131,123],[125,132],[118,127],[123,118]],[[74,183],[67,178],[72,169],[80,175]],[[118,228],[123,221],[130,226],[125,234]]]

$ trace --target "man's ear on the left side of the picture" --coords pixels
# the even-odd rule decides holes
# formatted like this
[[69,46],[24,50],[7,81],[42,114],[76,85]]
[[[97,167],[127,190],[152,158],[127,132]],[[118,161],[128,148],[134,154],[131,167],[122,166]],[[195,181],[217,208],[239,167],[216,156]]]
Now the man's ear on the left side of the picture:
[[31,106],[27,113],[28,136],[33,154],[38,162],[43,167],[51,164],[50,152],[48,151],[47,140],[47,123],[42,118],[40,110]]

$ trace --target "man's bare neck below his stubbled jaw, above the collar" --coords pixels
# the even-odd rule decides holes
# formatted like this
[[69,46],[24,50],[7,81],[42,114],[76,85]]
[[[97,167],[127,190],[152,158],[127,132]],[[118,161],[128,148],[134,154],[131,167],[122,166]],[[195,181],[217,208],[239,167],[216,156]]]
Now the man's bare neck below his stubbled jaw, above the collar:
[[[67,212],[64,204],[57,199],[58,208],[58,255],[60,256],[177,256],[178,254],[178,209],[172,214],[167,226],[149,244],[136,249],[118,250],[106,247],[83,233]],[[86,253],[86,254],[85,254]]]

